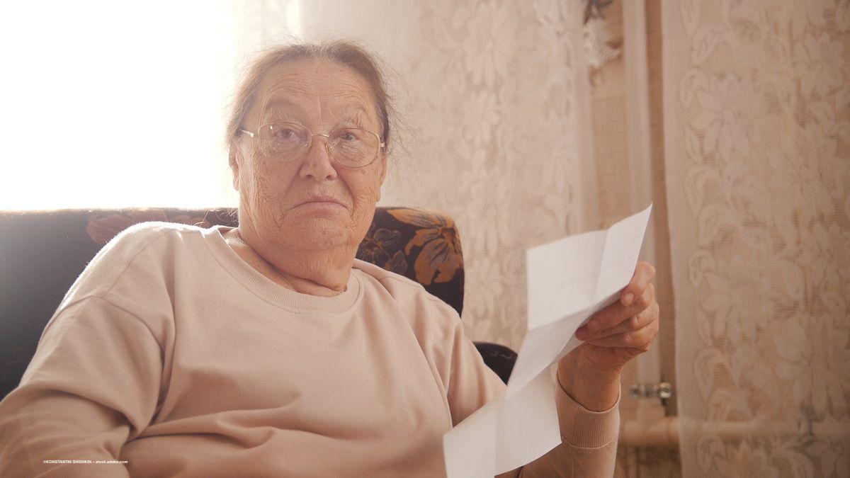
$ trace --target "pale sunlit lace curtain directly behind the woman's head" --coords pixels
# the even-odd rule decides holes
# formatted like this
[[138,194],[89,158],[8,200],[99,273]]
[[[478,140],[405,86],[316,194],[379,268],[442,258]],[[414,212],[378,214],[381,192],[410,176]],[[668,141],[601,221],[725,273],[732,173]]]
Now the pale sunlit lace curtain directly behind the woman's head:
[[556,0],[237,6],[251,26],[241,29],[246,51],[292,35],[343,37],[386,61],[404,124],[382,205],[450,213],[465,259],[467,333],[515,350],[525,249],[581,226],[574,7],[579,14]]

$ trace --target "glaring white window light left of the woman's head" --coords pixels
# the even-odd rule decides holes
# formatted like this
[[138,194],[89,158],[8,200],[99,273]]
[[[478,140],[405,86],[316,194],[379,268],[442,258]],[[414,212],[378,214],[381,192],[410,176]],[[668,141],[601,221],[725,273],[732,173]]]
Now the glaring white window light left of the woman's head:
[[3,3],[0,209],[235,206],[233,10]]

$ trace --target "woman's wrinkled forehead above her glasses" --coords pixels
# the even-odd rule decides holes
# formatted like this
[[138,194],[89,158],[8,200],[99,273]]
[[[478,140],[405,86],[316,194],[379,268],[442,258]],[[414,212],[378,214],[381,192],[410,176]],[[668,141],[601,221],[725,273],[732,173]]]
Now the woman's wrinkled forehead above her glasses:
[[272,67],[260,83],[251,117],[261,122],[346,120],[370,128],[380,124],[369,83],[331,60],[292,60]]

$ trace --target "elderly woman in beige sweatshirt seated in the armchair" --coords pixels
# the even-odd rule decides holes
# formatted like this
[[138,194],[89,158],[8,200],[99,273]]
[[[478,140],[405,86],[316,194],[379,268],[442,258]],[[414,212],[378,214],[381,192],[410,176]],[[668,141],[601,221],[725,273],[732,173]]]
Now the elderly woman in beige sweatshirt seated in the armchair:
[[[450,306],[354,259],[390,111],[351,43],[259,58],[228,128],[239,227],[146,223],[96,256],[0,403],[0,475],[445,475],[442,435],[505,386]],[[558,363],[563,443],[506,475],[613,473],[653,274],[638,265]]]

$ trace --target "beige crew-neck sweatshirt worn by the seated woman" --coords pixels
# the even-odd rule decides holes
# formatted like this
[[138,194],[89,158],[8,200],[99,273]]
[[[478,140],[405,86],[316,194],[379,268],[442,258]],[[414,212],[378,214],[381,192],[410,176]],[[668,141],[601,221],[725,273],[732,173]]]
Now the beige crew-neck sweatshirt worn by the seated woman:
[[[227,229],[98,253],[0,402],[0,476],[445,476],[442,435],[505,388],[456,311],[360,260],[342,294],[290,291]],[[509,475],[612,475],[616,406],[557,402],[564,443]]]

